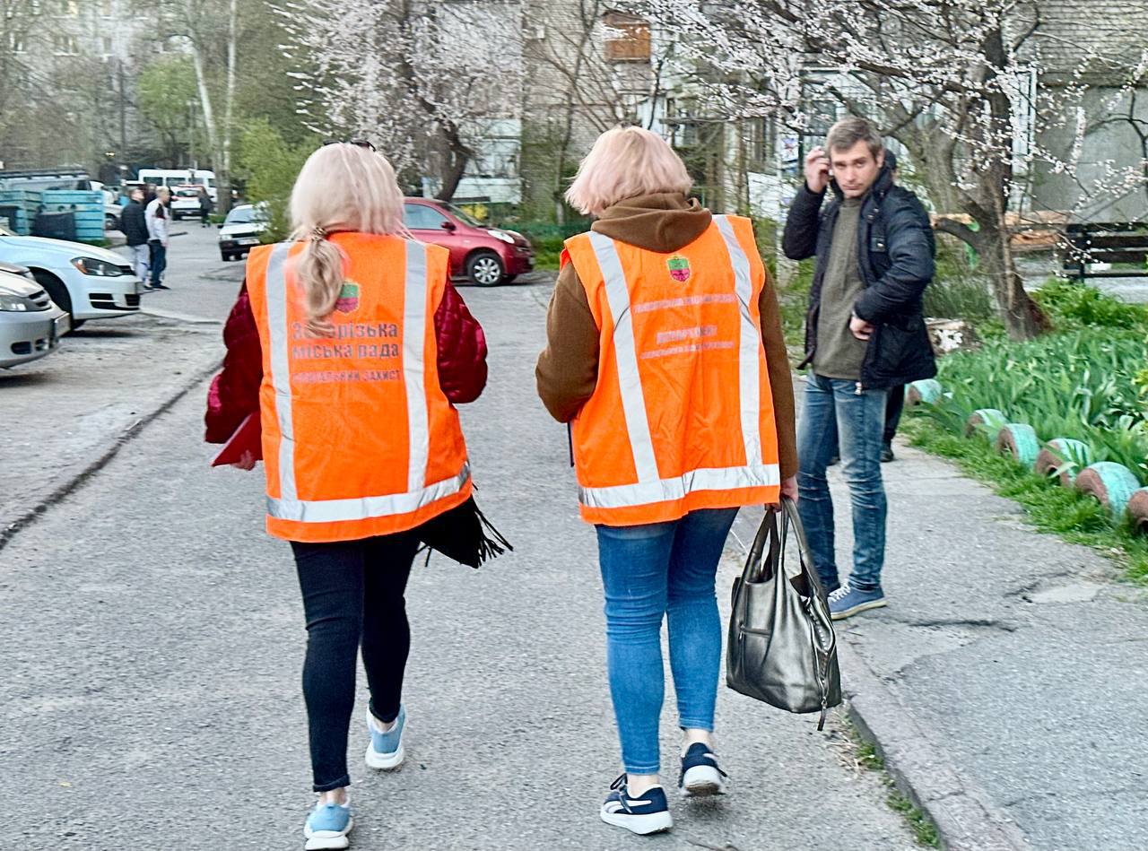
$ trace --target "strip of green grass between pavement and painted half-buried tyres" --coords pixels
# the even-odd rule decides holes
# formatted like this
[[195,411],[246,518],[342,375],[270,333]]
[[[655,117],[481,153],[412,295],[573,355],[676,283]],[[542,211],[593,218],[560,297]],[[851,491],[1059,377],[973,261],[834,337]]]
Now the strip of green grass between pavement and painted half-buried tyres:
[[967,475],[1015,500],[1040,532],[1099,549],[1123,567],[1130,582],[1148,586],[1148,539],[1133,533],[1126,524],[1114,525],[1108,512],[1092,497],[1061,487],[1054,479],[1034,475],[1010,458],[998,455],[984,440],[939,431],[922,418],[906,421],[902,433],[913,446],[955,462]]

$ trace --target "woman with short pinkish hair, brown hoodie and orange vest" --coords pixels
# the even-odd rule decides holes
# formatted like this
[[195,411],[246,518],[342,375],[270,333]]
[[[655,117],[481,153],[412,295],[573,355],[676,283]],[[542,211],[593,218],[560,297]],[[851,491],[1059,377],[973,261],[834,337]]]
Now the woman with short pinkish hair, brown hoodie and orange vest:
[[572,424],[581,515],[598,537],[625,766],[600,818],[637,834],[673,825],[659,780],[662,619],[680,789],[721,792],[718,563],[738,506],[797,498],[792,379],[753,227],[687,200],[690,186],[657,134],[598,138],[566,195],[598,221],[566,241],[536,370],[546,409]]

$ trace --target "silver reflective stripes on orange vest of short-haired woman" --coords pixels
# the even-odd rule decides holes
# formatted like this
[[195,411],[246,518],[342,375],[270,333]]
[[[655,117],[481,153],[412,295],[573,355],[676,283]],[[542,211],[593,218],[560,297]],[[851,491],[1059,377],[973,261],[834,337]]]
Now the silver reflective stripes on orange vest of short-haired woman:
[[761,370],[759,348],[761,335],[753,323],[750,303],[753,299],[753,279],[750,261],[734,234],[732,225],[724,216],[714,216],[714,222],[726,240],[730,262],[734,266],[737,297],[740,312],[740,342],[738,347],[738,374],[740,395],[742,436],[745,441],[745,466],[706,467],[691,470],[680,477],[662,479],[658,474],[658,463],[653,455],[650,421],[646,416],[645,396],[638,372],[637,345],[630,318],[629,289],[618,256],[614,241],[600,233],[590,232],[598,266],[602,270],[614,320],[614,354],[618,365],[619,386],[622,395],[622,411],[634,452],[634,465],[638,473],[635,485],[610,487],[580,487],[582,504],[594,509],[620,509],[633,505],[649,505],[659,502],[682,500],[697,490],[734,490],[739,488],[774,487],[781,483],[781,471],[776,464],[762,463],[761,455]]

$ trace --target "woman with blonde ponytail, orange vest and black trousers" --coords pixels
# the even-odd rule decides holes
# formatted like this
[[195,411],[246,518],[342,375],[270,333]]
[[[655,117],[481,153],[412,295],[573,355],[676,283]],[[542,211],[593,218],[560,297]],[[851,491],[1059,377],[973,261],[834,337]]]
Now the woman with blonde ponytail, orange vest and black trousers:
[[416,550],[426,542],[478,566],[505,541],[482,531],[455,409],[486,385],[482,328],[450,285],[447,250],[403,227],[390,163],[366,142],[325,145],[300,172],[290,218],[292,241],[248,258],[207,440],[227,443],[216,463],[265,462],[267,532],[290,542],[308,628],[318,802],[305,848],[344,849],[359,647],[371,696],[365,761],[395,769]]

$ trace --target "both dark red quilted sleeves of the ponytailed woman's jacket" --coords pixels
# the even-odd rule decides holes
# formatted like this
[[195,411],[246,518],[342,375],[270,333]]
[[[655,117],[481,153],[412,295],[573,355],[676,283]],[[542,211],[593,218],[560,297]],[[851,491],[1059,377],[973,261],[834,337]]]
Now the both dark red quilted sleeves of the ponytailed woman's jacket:
[[[435,312],[434,327],[443,393],[455,404],[473,402],[487,386],[487,338],[449,281]],[[211,380],[203,418],[208,443],[226,443],[243,419],[259,410],[263,349],[246,283],[227,317],[223,339],[227,354],[223,371]]]

